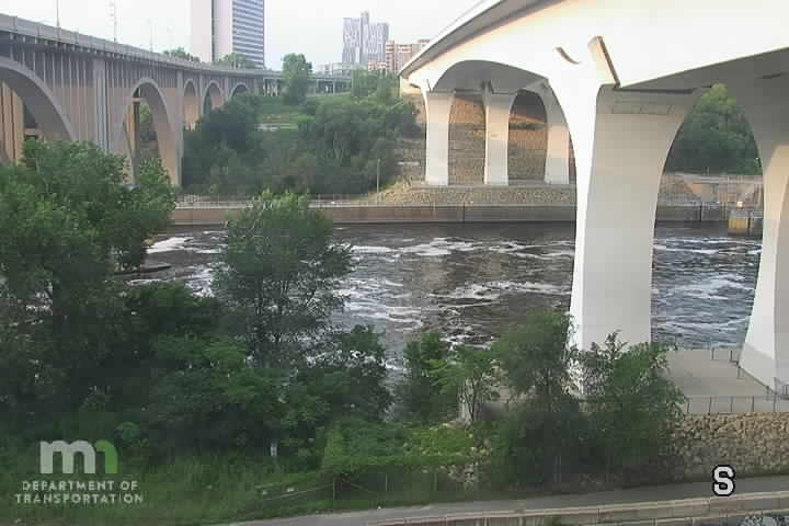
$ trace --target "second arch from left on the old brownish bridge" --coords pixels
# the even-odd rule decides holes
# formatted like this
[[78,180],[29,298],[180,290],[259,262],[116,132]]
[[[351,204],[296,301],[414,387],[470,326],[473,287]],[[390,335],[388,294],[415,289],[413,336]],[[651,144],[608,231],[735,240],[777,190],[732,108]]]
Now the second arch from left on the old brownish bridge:
[[125,115],[129,107],[134,104],[136,96],[145,99],[151,111],[151,118],[153,122],[153,129],[157,135],[157,142],[159,146],[159,157],[162,160],[164,169],[168,171],[170,182],[173,185],[179,185],[181,174],[181,160],[178,148],[178,136],[175,132],[175,119],[173,113],[170,111],[164,94],[157,82],[151,78],[142,78],[128,91],[126,98],[123,100],[123,104],[119,108],[118,118],[115,121],[117,124],[113,134],[114,145],[125,145],[124,129],[125,129]]

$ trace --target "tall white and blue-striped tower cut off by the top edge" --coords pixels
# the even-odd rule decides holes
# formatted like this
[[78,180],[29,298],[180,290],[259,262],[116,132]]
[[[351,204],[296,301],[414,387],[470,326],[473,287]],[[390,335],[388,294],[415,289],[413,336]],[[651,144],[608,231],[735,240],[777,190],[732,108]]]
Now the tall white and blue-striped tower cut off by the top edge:
[[192,54],[213,62],[231,53],[265,68],[265,0],[192,0]]

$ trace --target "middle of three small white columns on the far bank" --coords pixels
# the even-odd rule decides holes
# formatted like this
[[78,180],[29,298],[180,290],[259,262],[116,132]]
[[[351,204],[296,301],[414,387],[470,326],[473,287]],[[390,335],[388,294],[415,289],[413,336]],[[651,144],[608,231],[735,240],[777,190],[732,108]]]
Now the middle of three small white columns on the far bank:
[[507,157],[510,153],[510,112],[516,93],[485,91],[485,168],[484,182],[490,185],[510,184]]

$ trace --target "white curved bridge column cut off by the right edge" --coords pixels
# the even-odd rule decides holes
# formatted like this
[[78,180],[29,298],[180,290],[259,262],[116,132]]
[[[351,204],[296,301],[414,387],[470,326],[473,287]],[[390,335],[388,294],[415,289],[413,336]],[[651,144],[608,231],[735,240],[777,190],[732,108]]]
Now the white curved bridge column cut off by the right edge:
[[789,384],[789,77],[728,85],[753,128],[765,185],[762,261],[740,364],[781,391]]

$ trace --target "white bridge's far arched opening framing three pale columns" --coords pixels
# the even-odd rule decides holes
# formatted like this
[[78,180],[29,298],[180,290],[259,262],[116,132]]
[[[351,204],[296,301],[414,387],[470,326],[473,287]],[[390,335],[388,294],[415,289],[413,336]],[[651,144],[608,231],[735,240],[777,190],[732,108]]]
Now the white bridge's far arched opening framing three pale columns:
[[[427,141],[436,148],[435,155],[428,148],[428,184],[570,183],[570,132],[545,77],[473,59],[457,61],[433,78],[433,85],[414,79],[425,99]],[[531,107],[525,115],[526,99]]]

